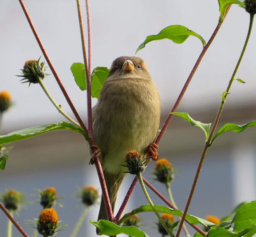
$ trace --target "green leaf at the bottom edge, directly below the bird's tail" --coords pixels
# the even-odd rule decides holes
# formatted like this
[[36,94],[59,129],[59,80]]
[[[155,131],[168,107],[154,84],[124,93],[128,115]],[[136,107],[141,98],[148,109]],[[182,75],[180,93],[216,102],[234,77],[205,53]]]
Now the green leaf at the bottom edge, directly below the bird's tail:
[[118,226],[107,220],[99,220],[95,222],[90,221],[90,223],[96,226],[100,235],[115,236],[118,234],[126,234],[135,237],[149,237],[146,233],[135,226]]

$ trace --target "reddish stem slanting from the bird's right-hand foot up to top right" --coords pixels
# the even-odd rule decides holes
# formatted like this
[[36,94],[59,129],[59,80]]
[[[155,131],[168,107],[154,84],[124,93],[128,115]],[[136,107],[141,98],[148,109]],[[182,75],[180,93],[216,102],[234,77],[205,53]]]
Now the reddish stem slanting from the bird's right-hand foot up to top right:
[[[227,15],[227,13],[228,13],[230,7],[231,7],[231,5],[229,5],[229,6],[227,7],[225,17],[226,17],[226,15]],[[224,18],[225,18],[225,17],[224,17]],[[223,22],[223,21],[222,21],[222,22]],[[197,68],[198,68],[198,65],[200,64],[200,62],[201,62],[201,60],[202,60],[204,54],[206,53],[206,51],[207,51],[207,49],[209,48],[209,46],[211,45],[211,43],[212,43],[214,37],[216,36],[217,32],[219,31],[222,22],[219,21],[219,23],[218,23],[217,27],[215,28],[215,30],[214,30],[214,32],[213,32],[211,38],[210,38],[209,41],[206,43],[206,45],[203,47],[203,50],[202,50],[201,54],[199,55],[198,59],[196,60],[195,65],[194,65],[192,71],[190,72],[190,74],[189,74],[189,76],[188,76],[188,78],[187,78],[187,81],[186,81],[185,85],[183,86],[183,88],[182,88],[182,90],[181,90],[181,92],[180,92],[180,94],[179,94],[179,96],[178,96],[178,99],[176,100],[176,102],[175,102],[175,104],[174,104],[174,106],[173,106],[171,112],[175,112],[175,111],[176,111],[176,109],[177,109],[177,107],[178,107],[178,105],[179,105],[179,103],[180,103],[180,101],[181,101],[181,99],[182,99],[182,97],[183,97],[183,95],[184,95],[184,93],[185,93],[185,91],[186,91],[186,89],[187,89],[187,87],[188,87],[188,85],[189,85],[191,79],[193,78],[193,75],[195,74],[195,71],[196,71]],[[155,144],[158,144],[159,141],[161,140],[161,138],[162,138],[164,132],[166,131],[166,128],[167,128],[167,126],[168,126],[168,124],[169,124],[169,122],[170,122],[172,116],[173,116],[172,114],[169,114],[169,115],[168,115],[168,117],[167,117],[167,119],[166,119],[166,121],[165,121],[165,123],[164,123],[164,125],[163,125],[163,128],[161,129],[160,133],[158,134],[158,137],[157,137],[157,139],[156,139],[156,141],[155,141]]]

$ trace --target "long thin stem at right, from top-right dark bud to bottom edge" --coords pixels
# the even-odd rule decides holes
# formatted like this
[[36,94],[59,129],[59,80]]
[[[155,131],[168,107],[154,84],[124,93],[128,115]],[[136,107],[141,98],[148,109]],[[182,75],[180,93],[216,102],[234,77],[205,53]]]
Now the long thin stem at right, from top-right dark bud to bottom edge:
[[214,125],[212,127],[212,130],[211,130],[211,133],[209,135],[209,138],[208,140],[206,141],[205,143],[205,146],[204,146],[204,149],[203,149],[203,152],[202,152],[202,155],[201,155],[201,159],[200,159],[200,162],[199,162],[199,165],[198,165],[198,168],[197,168],[197,171],[196,171],[196,174],[195,174],[195,179],[194,179],[194,182],[192,184],[192,188],[191,188],[191,191],[190,191],[190,194],[188,196],[188,200],[187,200],[187,204],[186,204],[186,207],[185,207],[185,210],[183,212],[183,215],[182,215],[182,219],[180,221],[180,224],[179,224],[179,228],[177,230],[177,234],[176,234],[176,237],[179,237],[179,234],[180,234],[180,231],[181,231],[181,227],[182,227],[182,224],[184,223],[184,219],[185,219],[185,215],[187,214],[187,211],[188,211],[188,208],[189,208],[189,205],[190,205],[190,202],[192,200],[192,197],[193,197],[193,193],[195,191],[195,186],[196,186],[196,183],[197,183],[197,180],[198,180],[198,177],[199,177],[199,174],[200,174],[200,171],[201,171],[201,168],[202,168],[202,165],[203,165],[203,160],[204,160],[204,157],[206,155],[206,152],[207,150],[210,148],[210,146],[212,145],[211,144],[211,140],[212,140],[212,137],[213,137],[213,134],[214,134],[214,131],[217,127],[217,124],[219,122],[219,119],[220,119],[220,115],[221,115],[221,112],[222,112],[222,109],[224,107],[224,104],[225,104],[225,99],[227,98],[228,96],[228,92],[230,90],[230,87],[232,85],[232,82],[235,78],[235,75],[236,75],[236,72],[238,70],[238,67],[241,63],[241,60],[244,56],[244,52],[245,52],[245,49],[247,47],[247,44],[248,44],[248,41],[249,41],[249,38],[250,38],[250,35],[251,35],[251,31],[252,31],[252,25],[253,25],[253,19],[254,19],[254,15],[250,14],[250,23],[249,23],[249,29],[248,29],[248,33],[247,33],[247,37],[246,37],[246,40],[244,42],[244,47],[242,49],[242,52],[240,54],[240,57],[238,59],[238,62],[236,64],[236,67],[235,67],[235,70],[229,80],[229,83],[228,83],[228,87],[227,87],[227,90],[225,91],[225,95],[223,96],[222,98],[222,101],[221,101],[221,104],[220,104],[220,108],[218,110],[218,113],[217,113],[217,116],[216,116],[216,119],[214,121]]

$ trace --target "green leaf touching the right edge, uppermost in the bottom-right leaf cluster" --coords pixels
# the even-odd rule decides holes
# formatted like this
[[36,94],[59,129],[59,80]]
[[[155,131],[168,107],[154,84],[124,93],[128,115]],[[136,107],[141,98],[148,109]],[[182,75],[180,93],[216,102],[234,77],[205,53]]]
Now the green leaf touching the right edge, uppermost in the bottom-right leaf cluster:
[[244,204],[243,207],[238,209],[232,223],[243,220],[249,220],[252,225],[256,226],[256,201]]

